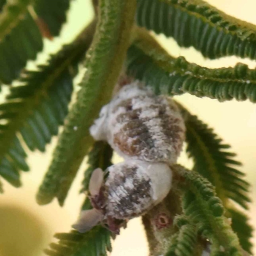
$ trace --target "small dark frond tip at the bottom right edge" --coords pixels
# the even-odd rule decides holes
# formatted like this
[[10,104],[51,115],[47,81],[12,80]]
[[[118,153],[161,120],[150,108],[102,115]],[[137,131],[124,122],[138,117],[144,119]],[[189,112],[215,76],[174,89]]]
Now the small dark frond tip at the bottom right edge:
[[242,248],[252,254],[253,244],[250,239],[253,237],[253,228],[248,223],[248,217],[243,212],[233,208],[227,210],[227,216],[231,218],[231,227],[237,234]]

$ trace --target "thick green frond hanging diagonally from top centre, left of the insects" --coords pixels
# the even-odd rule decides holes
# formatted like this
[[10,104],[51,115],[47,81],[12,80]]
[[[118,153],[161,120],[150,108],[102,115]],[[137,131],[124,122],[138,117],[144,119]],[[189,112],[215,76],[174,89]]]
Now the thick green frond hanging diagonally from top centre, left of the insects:
[[[77,170],[93,140],[89,128],[109,102],[122,70],[134,22],[136,0],[102,0],[99,22],[86,59],[87,68],[77,101],[58,140],[52,163],[37,194],[38,204],[54,197],[63,205]],[[74,132],[74,127],[77,127]]]

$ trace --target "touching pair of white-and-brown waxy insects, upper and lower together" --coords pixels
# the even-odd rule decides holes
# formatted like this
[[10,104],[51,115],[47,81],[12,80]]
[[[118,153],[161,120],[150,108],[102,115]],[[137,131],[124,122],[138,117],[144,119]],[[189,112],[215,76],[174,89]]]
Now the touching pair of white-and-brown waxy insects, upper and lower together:
[[[95,140],[106,140],[123,163],[90,180],[92,210],[81,213],[73,226],[80,232],[103,223],[118,234],[127,220],[159,204],[170,191],[172,171],[184,141],[184,121],[175,103],[156,96],[141,83],[122,87],[104,106],[90,128]],[[94,215],[93,215],[94,214]]]

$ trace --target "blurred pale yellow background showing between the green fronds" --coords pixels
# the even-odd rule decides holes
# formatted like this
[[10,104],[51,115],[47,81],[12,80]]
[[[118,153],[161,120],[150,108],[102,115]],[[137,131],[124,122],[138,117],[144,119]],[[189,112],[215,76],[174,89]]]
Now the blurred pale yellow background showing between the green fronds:
[[[230,15],[256,24],[255,0],[208,0],[208,2]],[[38,55],[38,63],[44,63],[49,53],[58,51],[62,44],[70,42],[92,19],[92,15],[89,0],[72,1],[68,23],[64,26],[60,38],[56,38],[54,42],[45,40],[45,49]],[[240,61],[250,65],[250,68],[255,68],[255,62],[234,57],[208,61],[194,49],[180,49],[172,39],[167,40],[164,36],[157,38],[173,56],[185,56],[188,61],[205,67],[229,67]],[[28,67],[34,68],[35,63],[29,63]],[[217,100],[198,99],[189,95],[182,95],[176,99],[214,127],[220,137],[232,145],[233,151],[238,154],[237,159],[244,164],[243,171],[247,173],[247,180],[253,185],[252,198],[255,198],[256,104],[248,101],[220,103]],[[22,173],[22,188],[15,189],[4,182],[5,193],[0,196],[0,256],[42,256],[44,255],[42,250],[54,241],[54,233],[68,232],[70,225],[77,219],[84,200],[84,196],[79,195],[78,191],[81,188],[85,163],[81,166],[63,208],[56,201],[45,206],[39,206],[35,202],[36,191],[51,161],[55,145],[56,138],[47,147],[47,153],[35,152],[29,155],[31,172]],[[122,160],[115,157],[115,161]],[[179,162],[191,166],[184,152]],[[250,209],[250,215],[252,225],[256,227],[255,202]],[[256,250],[254,252],[256,255]],[[128,227],[122,230],[121,236],[118,236],[113,243],[111,255],[148,255],[147,241],[140,218],[130,221]]]

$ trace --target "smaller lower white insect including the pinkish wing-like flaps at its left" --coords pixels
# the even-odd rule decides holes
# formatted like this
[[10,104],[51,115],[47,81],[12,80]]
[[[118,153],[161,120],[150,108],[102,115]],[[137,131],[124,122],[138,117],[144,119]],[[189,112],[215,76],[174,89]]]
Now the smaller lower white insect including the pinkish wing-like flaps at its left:
[[172,171],[165,163],[126,160],[110,166],[106,172],[96,169],[90,179],[93,209],[81,212],[72,227],[86,232],[98,223],[119,233],[127,220],[141,216],[159,204],[172,186]]

